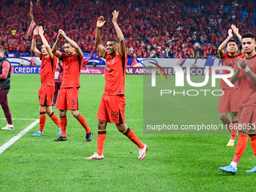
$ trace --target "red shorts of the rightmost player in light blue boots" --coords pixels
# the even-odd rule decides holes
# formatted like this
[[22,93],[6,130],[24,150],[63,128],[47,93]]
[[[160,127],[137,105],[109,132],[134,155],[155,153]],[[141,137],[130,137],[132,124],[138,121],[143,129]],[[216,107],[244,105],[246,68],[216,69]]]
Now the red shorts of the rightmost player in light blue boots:
[[239,107],[238,115],[238,130],[242,131],[239,133],[256,134],[256,106],[246,105]]

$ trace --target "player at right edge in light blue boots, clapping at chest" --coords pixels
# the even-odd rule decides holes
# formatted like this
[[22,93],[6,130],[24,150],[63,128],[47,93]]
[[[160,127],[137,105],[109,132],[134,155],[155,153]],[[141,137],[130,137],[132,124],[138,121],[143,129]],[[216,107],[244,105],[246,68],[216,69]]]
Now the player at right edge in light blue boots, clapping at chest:
[[[242,35],[242,49],[245,55],[239,56],[235,73],[230,82],[238,81],[238,114],[239,114],[239,139],[236,145],[235,155],[228,166],[220,167],[223,172],[233,175],[237,173],[237,164],[245,151],[248,136],[251,139],[251,148],[256,156],[256,52],[255,37],[251,33]],[[246,172],[256,172],[256,166]]]

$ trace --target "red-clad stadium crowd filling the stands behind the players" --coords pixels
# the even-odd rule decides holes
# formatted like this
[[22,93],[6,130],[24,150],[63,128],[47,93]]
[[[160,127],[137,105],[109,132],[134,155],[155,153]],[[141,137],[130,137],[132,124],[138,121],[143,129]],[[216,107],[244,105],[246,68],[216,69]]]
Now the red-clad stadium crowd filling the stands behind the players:
[[[220,0],[33,0],[37,26],[44,26],[45,38],[53,45],[58,29],[78,42],[84,53],[99,56],[94,45],[95,20],[106,22],[102,41],[113,38],[111,11],[120,11],[119,26],[126,38],[129,57],[209,58],[218,55],[218,46],[227,38],[231,24],[239,33],[256,34],[256,3]],[[0,45],[9,53],[30,56],[32,35],[26,35],[31,19],[29,0],[0,2]],[[4,30],[3,30],[4,29]],[[41,40],[37,39],[41,49]],[[59,50],[62,50],[63,42]]]

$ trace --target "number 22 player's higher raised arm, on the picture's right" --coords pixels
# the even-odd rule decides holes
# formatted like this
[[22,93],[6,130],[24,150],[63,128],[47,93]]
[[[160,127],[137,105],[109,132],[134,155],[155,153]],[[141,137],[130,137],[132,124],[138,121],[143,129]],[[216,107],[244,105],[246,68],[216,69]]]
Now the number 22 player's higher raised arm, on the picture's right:
[[117,25],[117,17],[119,15],[119,12],[114,10],[114,12],[112,13],[113,15],[113,19],[112,22],[114,24],[114,29],[117,32],[117,38],[119,40],[119,52],[121,53],[122,56],[126,55],[126,50],[125,50],[125,43],[124,43],[124,37],[123,37],[123,32],[121,31],[120,27]]

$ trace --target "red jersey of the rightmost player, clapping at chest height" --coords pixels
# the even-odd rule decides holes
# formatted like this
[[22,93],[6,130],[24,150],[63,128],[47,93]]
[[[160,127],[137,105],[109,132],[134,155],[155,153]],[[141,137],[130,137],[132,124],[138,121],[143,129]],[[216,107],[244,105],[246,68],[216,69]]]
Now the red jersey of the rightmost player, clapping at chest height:
[[[245,55],[238,58],[245,59]],[[251,72],[256,74],[256,55],[247,59],[247,66]],[[235,70],[237,70],[235,66]],[[244,69],[241,69],[238,78],[238,105],[254,105],[256,106],[256,84],[249,78]]]

